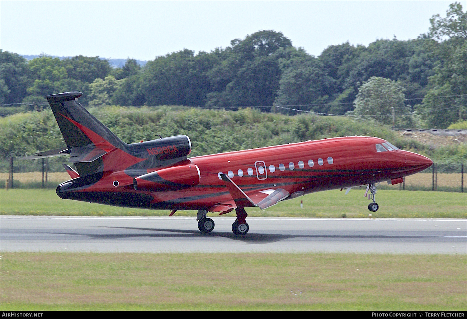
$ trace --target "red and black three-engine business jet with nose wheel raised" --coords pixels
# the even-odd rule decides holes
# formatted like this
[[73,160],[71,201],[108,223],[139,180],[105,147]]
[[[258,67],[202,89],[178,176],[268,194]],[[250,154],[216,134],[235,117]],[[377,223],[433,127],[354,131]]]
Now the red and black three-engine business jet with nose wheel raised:
[[78,103],[81,92],[47,97],[67,148],[22,159],[69,154],[71,180],[57,187],[63,199],[122,207],[198,210],[198,228],[209,233],[207,212],[235,209],[235,235],[248,233],[245,207],[268,208],[312,192],[367,185],[368,209],[378,210],[376,186],[397,184],[433,164],[384,139],[339,137],[187,158],[186,135],[127,144]]

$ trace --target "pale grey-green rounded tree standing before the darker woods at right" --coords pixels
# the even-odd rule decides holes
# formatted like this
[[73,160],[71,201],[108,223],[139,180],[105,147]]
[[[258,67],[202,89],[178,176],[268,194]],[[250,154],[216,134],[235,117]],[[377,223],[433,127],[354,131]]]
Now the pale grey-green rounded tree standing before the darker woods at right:
[[412,125],[410,112],[404,104],[403,87],[396,81],[372,76],[358,89],[353,115],[357,118],[374,119],[382,124],[392,124],[392,108],[396,127]]

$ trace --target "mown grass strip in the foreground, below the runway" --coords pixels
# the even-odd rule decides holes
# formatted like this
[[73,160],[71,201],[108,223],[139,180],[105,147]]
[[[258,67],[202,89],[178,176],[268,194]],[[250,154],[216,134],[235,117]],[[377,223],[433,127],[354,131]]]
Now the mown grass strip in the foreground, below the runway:
[[2,310],[465,310],[464,255],[3,253]]

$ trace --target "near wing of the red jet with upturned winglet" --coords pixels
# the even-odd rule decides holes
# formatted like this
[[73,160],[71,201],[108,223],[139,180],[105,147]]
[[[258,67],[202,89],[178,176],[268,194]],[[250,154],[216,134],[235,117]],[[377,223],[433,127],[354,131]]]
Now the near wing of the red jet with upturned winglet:
[[220,176],[226,183],[227,189],[237,207],[249,207],[253,205],[264,209],[276,205],[279,201],[284,200],[290,195],[289,192],[282,188],[249,191],[247,194],[226,174],[220,174]]

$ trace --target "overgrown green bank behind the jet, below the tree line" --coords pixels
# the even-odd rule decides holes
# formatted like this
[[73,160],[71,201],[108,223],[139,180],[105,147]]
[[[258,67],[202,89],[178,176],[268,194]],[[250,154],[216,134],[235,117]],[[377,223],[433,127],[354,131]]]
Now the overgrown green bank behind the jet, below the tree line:
[[[308,139],[367,135],[389,140],[396,146],[429,156],[436,163],[458,167],[467,161],[467,146],[432,148],[407,139],[372,120],[322,117],[304,113],[287,116],[254,109],[208,110],[179,106],[99,106],[88,110],[126,143],[186,134],[191,138],[190,156],[295,143]],[[52,111],[18,113],[0,118],[0,171],[7,172],[10,156],[21,157],[66,146]],[[63,171],[64,157],[47,160],[52,171]],[[40,171],[41,160],[16,160],[15,170]],[[460,169],[460,168],[459,168]]]

